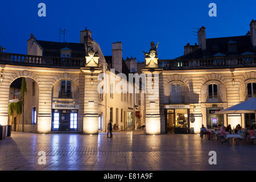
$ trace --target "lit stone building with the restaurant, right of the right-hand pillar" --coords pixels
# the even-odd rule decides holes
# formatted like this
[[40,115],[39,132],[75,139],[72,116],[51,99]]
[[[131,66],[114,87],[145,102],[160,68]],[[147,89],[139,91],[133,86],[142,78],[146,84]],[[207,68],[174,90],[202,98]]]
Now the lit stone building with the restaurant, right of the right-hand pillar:
[[202,124],[255,126],[254,114],[216,114],[255,97],[255,31],[252,20],[245,36],[206,39],[201,27],[199,45],[187,44],[174,60],[159,60],[161,133],[199,133]]

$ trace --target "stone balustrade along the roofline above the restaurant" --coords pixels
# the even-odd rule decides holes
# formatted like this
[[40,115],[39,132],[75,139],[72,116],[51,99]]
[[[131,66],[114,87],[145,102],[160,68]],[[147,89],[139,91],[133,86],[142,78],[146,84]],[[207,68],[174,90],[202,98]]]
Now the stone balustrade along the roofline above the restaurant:
[[205,69],[256,67],[256,56],[216,57],[207,59],[159,60],[163,69]]

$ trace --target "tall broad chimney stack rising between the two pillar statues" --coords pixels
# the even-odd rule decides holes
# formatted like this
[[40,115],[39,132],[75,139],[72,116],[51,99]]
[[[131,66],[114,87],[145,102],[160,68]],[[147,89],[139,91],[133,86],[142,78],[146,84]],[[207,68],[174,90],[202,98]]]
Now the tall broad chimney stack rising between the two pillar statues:
[[123,51],[122,43],[112,43],[112,68],[122,73]]

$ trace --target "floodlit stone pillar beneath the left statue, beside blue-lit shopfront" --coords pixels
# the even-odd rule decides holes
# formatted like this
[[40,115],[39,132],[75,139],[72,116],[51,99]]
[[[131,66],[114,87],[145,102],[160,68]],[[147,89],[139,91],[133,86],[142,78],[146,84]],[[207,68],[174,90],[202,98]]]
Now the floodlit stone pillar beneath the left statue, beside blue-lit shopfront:
[[[83,133],[98,134],[98,75],[101,68],[81,68],[85,73]],[[93,82],[93,83],[92,83]]]

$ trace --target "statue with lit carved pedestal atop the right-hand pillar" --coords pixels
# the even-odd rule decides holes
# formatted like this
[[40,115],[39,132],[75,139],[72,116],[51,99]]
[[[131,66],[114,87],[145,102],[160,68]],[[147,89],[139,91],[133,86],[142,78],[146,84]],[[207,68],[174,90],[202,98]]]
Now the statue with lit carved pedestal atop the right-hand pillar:
[[151,42],[151,48],[148,53],[142,51],[145,55],[146,68],[158,68],[158,43],[155,45],[154,42]]

